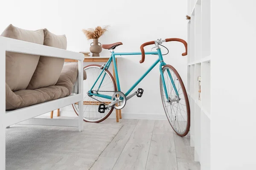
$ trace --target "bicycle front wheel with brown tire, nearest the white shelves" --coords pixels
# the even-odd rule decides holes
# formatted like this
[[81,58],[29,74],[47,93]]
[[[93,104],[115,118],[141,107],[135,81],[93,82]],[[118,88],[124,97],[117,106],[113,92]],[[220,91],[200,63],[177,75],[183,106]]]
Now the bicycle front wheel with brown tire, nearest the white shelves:
[[180,75],[172,65],[163,66],[163,78],[166,84],[168,99],[166,98],[161,76],[160,92],[167,119],[177,135],[186,136],[190,128],[190,108],[185,86]]

